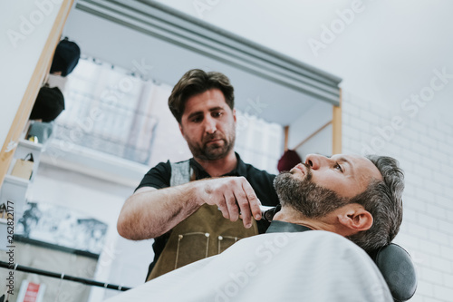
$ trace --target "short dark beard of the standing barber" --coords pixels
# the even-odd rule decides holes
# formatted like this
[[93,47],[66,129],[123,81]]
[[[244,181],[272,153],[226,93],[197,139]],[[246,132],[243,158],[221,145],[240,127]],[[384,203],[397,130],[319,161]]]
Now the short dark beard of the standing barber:
[[[221,140],[222,144],[218,143],[207,143],[211,140]],[[226,155],[233,150],[235,147],[236,132],[233,129],[232,132],[223,135],[221,133],[214,133],[204,137],[201,145],[188,143],[188,148],[192,152],[193,156],[205,160],[205,161],[216,161],[223,159]]]

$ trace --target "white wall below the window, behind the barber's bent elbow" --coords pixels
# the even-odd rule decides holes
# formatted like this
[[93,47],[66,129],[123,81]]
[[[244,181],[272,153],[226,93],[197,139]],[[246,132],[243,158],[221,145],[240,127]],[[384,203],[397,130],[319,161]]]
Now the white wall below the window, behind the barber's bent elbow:
[[[134,189],[42,163],[33,186],[27,192],[27,200],[59,205],[106,223],[109,227],[94,279],[136,287],[144,282],[154,256],[152,240],[122,239],[116,229],[124,200]],[[90,288],[92,292],[88,301],[101,301],[118,293],[100,287]]]

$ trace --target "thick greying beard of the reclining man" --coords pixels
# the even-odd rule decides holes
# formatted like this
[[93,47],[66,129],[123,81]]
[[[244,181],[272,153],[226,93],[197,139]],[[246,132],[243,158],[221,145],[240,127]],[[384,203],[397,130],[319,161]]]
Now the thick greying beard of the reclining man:
[[274,186],[282,206],[291,206],[306,218],[321,218],[349,203],[349,199],[338,196],[333,190],[325,189],[312,181],[312,172],[305,166],[307,175],[298,180],[290,172],[275,177]]

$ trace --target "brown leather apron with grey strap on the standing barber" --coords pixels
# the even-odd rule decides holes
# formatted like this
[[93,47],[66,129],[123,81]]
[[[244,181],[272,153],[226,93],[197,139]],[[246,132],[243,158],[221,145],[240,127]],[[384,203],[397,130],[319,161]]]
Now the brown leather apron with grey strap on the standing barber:
[[[187,164],[186,164],[187,162]],[[179,173],[176,183],[182,184],[191,179],[188,161],[183,161],[180,166],[172,164],[172,178],[174,173]],[[188,169],[188,170],[186,170]],[[181,177],[188,174],[189,177]],[[170,181],[170,184],[175,181]],[[232,222],[225,219],[217,206],[204,204],[187,219],[181,221],[171,230],[167,245],[162,250],[159,259],[152,269],[147,281],[166,274],[169,271],[181,268],[203,258],[214,256],[229,248],[237,240],[258,234],[255,219],[250,229],[244,228],[241,219]]]

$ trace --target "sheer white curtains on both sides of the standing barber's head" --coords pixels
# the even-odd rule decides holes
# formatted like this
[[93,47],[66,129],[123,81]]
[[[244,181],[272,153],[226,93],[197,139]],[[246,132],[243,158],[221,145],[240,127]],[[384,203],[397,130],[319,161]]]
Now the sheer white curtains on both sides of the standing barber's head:
[[[64,87],[66,109],[56,121],[56,139],[149,166],[187,160],[190,151],[169,111],[171,89],[80,60]],[[256,168],[277,173],[282,126],[237,112],[236,151]]]

